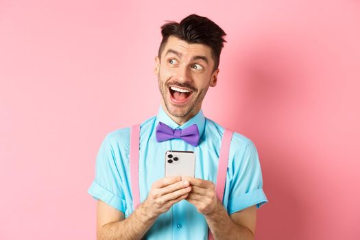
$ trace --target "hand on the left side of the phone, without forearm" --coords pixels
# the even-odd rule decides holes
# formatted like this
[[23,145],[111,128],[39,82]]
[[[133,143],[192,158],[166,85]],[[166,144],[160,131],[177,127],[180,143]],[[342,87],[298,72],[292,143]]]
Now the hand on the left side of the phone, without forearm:
[[191,191],[190,183],[181,177],[167,177],[152,184],[144,204],[153,217],[169,211],[173,204],[184,200]]

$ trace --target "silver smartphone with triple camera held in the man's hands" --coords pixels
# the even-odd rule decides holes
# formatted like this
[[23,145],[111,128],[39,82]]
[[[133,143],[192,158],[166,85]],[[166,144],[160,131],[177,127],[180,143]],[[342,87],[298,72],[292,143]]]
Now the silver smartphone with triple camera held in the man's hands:
[[195,176],[195,153],[191,151],[165,152],[165,177]]

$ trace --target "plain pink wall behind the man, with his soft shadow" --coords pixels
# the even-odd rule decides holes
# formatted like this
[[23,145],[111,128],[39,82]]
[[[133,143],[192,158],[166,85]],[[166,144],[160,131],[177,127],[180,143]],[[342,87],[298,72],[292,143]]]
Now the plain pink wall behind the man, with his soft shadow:
[[160,25],[228,34],[204,113],[259,150],[256,239],[360,239],[359,1],[0,1],[0,239],[95,239],[104,136],[156,115]]

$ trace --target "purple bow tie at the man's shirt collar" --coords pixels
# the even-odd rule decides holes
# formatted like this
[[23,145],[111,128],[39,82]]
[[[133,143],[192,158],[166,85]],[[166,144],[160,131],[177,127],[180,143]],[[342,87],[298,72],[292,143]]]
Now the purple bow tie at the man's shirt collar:
[[196,147],[199,144],[200,133],[196,124],[189,126],[183,130],[173,130],[165,123],[159,122],[156,127],[156,141],[163,142],[170,139],[182,139]]

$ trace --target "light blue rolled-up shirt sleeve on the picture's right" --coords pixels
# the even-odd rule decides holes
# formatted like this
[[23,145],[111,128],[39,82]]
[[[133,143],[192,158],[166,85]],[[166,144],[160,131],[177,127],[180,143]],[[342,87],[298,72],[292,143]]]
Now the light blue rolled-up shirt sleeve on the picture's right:
[[248,140],[235,154],[232,169],[228,200],[229,214],[253,205],[259,208],[268,202],[263,191],[258,152],[252,141]]

